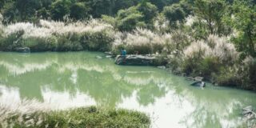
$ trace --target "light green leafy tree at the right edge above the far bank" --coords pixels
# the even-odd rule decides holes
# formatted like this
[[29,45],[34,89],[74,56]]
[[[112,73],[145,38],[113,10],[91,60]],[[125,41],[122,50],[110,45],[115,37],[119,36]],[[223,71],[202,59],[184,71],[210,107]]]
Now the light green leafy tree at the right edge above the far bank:
[[235,1],[231,26],[237,31],[233,40],[243,58],[250,55],[256,58],[256,6],[251,2]]

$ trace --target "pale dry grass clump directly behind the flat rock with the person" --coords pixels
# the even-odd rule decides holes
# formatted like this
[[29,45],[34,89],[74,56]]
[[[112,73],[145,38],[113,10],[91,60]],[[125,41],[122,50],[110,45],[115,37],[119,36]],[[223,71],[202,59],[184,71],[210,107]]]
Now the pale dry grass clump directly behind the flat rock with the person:
[[[115,38],[114,49],[124,46],[128,54],[159,54],[171,53],[178,46],[184,46],[182,41],[177,41],[177,35],[182,34],[159,34],[151,30],[137,28],[131,33],[121,33]],[[187,37],[185,37],[187,38]]]

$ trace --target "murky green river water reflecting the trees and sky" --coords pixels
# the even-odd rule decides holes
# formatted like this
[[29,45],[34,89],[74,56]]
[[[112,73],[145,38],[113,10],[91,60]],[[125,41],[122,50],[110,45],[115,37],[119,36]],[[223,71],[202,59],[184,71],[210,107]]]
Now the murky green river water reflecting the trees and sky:
[[104,106],[139,110],[152,127],[237,127],[256,93],[190,86],[151,66],[117,66],[102,53],[0,53],[0,103],[37,99],[58,109]]

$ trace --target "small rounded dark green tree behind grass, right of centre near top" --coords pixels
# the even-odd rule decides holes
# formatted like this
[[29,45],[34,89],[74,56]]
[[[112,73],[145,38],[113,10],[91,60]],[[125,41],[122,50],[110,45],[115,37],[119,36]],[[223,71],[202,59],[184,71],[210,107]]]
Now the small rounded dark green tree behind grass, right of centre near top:
[[162,14],[164,14],[171,25],[175,25],[177,21],[182,22],[185,19],[185,13],[178,4],[164,7]]

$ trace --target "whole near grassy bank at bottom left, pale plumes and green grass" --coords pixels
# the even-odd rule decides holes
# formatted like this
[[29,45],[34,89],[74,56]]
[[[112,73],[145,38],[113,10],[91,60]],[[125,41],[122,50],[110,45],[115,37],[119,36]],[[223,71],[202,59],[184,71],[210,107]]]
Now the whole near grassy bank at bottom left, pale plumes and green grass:
[[51,110],[42,107],[45,105],[34,106],[0,106],[0,127],[150,127],[150,118],[146,114],[132,110],[108,110],[95,106]]

